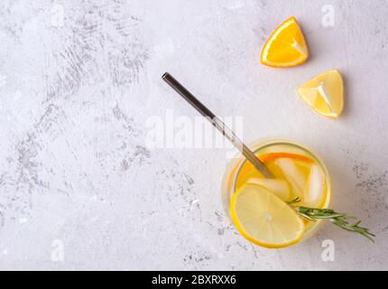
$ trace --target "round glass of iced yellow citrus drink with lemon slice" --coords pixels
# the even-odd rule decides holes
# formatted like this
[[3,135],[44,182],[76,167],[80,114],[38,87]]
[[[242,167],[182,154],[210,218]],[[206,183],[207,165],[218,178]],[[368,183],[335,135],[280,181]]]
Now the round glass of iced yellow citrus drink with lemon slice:
[[262,247],[287,247],[308,238],[321,220],[293,214],[287,203],[328,208],[331,187],[325,164],[289,140],[263,140],[251,147],[273,178],[264,178],[245,157],[229,163],[222,186],[227,215],[245,238]]

